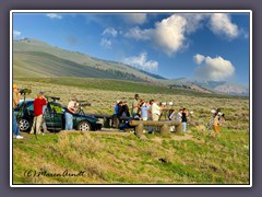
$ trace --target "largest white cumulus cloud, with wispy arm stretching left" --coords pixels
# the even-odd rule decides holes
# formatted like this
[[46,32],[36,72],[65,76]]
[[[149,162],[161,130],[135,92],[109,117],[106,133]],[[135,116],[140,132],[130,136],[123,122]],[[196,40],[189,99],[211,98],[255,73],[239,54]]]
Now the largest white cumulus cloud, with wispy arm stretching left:
[[172,14],[155,24],[154,28],[133,27],[124,36],[129,38],[153,40],[156,47],[168,55],[188,46],[187,35],[200,27],[209,14]]

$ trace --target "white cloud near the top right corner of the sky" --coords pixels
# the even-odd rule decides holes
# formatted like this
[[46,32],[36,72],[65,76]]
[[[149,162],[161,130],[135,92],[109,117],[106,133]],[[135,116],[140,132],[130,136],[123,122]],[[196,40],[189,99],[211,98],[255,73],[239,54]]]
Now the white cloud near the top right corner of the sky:
[[227,38],[236,38],[240,31],[226,13],[213,13],[210,18],[211,31],[216,35],[226,36]]

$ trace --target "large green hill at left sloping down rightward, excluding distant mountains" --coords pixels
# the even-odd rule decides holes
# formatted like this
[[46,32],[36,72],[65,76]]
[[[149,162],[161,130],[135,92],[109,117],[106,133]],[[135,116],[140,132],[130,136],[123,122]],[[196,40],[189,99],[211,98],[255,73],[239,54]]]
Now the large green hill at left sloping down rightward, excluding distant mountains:
[[[33,58],[33,60],[29,58]],[[48,61],[47,58],[50,58],[50,60]],[[28,77],[27,70],[33,69],[34,71],[28,72],[33,74],[35,70],[39,70],[35,74],[41,77],[84,77],[88,73],[87,77],[94,78],[156,80],[128,65],[97,59],[78,51],[64,50],[36,39],[14,40],[13,59],[14,74],[17,74],[17,77]],[[38,66],[39,63],[40,66]],[[64,68],[63,63],[66,63]],[[74,66],[76,68],[73,69]],[[61,69],[62,71],[59,72]],[[87,71],[84,71],[84,69],[87,69]],[[84,74],[81,73],[82,71]]]

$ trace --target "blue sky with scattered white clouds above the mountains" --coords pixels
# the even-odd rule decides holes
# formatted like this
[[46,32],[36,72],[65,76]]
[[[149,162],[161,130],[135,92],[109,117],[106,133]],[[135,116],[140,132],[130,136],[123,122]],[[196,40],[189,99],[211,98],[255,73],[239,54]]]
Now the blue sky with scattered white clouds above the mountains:
[[167,79],[249,84],[249,12],[13,12],[13,39],[35,38]]

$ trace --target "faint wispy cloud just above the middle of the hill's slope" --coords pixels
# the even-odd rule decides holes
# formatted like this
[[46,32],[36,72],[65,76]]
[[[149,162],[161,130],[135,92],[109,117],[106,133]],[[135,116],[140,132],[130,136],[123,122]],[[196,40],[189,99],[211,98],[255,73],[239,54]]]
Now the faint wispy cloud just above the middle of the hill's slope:
[[141,53],[136,57],[128,57],[123,59],[123,62],[131,65],[139,69],[155,71],[158,68],[158,62],[155,60],[147,60],[147,53]]

